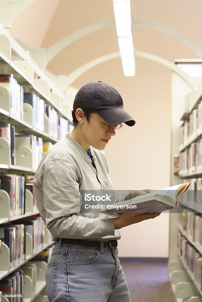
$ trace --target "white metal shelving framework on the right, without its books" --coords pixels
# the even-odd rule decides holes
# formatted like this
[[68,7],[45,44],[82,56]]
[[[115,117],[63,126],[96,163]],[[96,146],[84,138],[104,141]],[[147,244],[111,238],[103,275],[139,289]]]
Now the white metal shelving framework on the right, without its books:
[[[197,79],[198,81],[198,79]],[[186,120],[191,111],[197,108],[202,99],[201,81],[198,83],[196,92],[192,92],[190,86],[185,83],[179,76],[173,72],[172,87],[172,147],[171,147],[171,185],[181,182],[181,178],[201,177],[202,170],[180,171],[179,176],[174,175],[174,154],[179,154],[188,148],[191,143],[198,141],[202,137],[202,130],[198,129],[197,133],[192,135],[183,146],[180,146],[180,126],[181,120]],[[179,98],[180,95],[180,98]],[[180,111],[184,108],[184,112]],[[189,108],[189,110],[187,109]],[[180,114],[179,114],[180,112]],[[186,207],[189,205],[186,205]],[[173,292],[177,302],[201,302],[202,291],[200,285],[197,284],[192,272],[184,263],[177,251],[177,233],[180,231],[183,236],[200,252],[202,246],[194,243],[187,232],[182,230],[178,223],[177,213],[170,214],[170,250],[169,250],[169,277]]]

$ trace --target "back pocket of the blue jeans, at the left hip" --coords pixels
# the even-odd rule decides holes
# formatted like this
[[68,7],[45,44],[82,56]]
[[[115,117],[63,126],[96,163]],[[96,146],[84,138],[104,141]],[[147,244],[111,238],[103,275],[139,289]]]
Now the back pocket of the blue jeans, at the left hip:
[[58,261],[48,262],[46,269],[46,290],[49,302],[57,297]]

